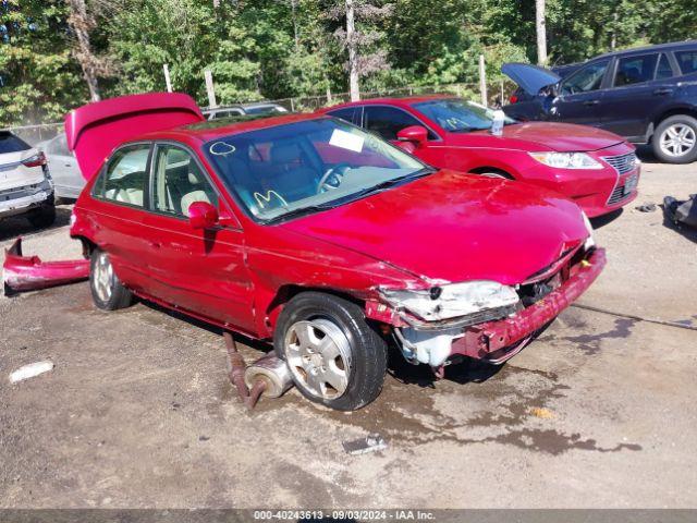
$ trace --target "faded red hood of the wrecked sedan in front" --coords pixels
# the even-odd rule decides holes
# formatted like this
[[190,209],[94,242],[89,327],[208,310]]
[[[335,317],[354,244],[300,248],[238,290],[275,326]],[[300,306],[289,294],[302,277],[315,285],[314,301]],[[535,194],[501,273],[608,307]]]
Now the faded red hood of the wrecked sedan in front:
[[588,235],[580,209],[552,192],[454,171],[280,227],[433,283],[521,283]]

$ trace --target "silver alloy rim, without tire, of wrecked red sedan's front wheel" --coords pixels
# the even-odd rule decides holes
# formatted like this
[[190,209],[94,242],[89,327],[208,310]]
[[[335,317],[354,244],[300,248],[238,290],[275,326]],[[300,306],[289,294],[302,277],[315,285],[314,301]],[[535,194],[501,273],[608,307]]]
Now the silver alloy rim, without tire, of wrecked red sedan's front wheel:
[[323,400],[340,398],[348,387],[351,343],[333,321],[297,321],[288,330],[285,357],[295,382]]

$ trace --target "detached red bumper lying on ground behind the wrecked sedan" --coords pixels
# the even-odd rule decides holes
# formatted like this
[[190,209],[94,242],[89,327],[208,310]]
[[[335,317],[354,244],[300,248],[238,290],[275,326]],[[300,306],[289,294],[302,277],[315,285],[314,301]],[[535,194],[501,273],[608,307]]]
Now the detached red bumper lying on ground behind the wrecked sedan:
[[33,291],[89,278],[88,259],[41,262],[38,256],[22,256],[22,238],[5,250],[2,265],[4,293]]

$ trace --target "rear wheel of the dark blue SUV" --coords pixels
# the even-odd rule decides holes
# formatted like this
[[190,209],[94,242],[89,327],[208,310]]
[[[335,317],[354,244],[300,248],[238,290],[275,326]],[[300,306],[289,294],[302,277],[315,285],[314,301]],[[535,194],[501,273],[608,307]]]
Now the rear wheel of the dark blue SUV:
[[663,120],[652,138],[653,154],[665,163],[690,163],[697,160],[697,120],[676,114]]

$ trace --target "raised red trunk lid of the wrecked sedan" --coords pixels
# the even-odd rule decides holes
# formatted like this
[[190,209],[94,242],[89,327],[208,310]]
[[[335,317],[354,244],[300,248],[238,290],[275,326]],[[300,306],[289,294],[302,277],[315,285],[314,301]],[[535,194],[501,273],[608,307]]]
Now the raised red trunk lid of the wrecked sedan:
[[204,121],[188,95],[151,93],[88,104],[65,115],[68,147],[86,180],[94,177],[114,147],[152,131]]

